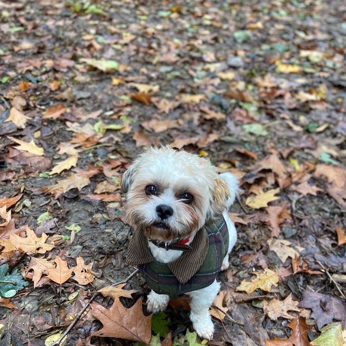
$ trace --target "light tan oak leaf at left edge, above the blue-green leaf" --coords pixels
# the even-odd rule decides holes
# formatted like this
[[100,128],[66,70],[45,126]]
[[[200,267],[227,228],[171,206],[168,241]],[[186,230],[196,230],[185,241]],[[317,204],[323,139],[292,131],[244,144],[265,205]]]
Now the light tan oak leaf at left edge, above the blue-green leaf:
[[9,232],[8,239],[0,239],[0,245],[5,247],[2,252],[19,250],[32,255],[36,253],[44,254],[53,249],[54,246],[48,241],[49,239],[46,233],[42,233],[42,236],[38,238],[35,232],[29,227],[26,228],[26,233],[27,236],[23,238],[13,232]]

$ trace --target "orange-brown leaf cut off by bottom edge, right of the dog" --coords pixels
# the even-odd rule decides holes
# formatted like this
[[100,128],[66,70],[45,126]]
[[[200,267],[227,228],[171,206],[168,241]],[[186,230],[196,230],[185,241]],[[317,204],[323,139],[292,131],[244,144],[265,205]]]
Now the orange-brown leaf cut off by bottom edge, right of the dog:
[[306,318],[298,317],[290,322],[288,327],[293,330],[290,338],[266,340],[266,346],[310,346],[308,332],[312,326],[307,324]]

